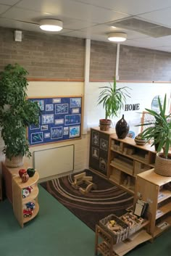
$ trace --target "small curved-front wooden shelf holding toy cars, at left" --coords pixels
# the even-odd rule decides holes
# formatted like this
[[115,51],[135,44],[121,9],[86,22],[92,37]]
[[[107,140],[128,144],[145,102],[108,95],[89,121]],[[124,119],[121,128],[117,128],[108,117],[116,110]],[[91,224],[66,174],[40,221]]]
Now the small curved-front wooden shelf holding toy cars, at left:
[[20,176],[12,179],[13,210],[20,226],[36,217],[38,205],[38,172],[22,183]]

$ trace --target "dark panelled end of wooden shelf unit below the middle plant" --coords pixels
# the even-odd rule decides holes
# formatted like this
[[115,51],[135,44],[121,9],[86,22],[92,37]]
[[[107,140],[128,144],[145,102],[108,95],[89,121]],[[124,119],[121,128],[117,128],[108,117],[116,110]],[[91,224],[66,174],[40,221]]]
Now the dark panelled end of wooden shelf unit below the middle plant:
[[89,168],[107,178],[109,138],[115,133],[114,128],[100,131],[99,127],[91,128]]

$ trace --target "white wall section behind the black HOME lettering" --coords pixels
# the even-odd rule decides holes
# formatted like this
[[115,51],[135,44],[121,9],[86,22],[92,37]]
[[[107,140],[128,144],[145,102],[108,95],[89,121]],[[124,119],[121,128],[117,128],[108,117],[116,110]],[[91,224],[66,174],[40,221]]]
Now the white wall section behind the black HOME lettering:
[[[88,128],[92,126],[99,125],[99,119],[104,118],[104,110],[102,106],[97,105],[97,100],[101,86],[107,86],[109,83],[90,83],[88,91]],[[130,130],[134,131],[135,134],[138,133],[138,127],[135,125],[141,122],[141,112],[145,108],[151,109],[151,102],[154,96],[160,95],[164,99],[164,94],[167,94],[167,99],[170,99],[171,93],[171,83],[119,83],[117,86],[123,87],[128,86],[130,88],[130,98],[127,98],[126,104],[139,104],[140,110],[138,111],[124,111],[120,112],[120,116],[113,118],[112,123],[115,126],[117,120],[120,120],[122,115],[124,115],[125,120],[128,121],[130,125]],[[169,102],[169,101],[167,101]]]

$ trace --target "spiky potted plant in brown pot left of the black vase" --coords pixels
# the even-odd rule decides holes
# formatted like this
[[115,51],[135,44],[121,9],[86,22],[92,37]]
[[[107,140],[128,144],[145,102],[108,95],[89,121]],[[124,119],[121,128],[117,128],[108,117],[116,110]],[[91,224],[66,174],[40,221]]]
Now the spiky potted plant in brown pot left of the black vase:
[[101,131],[109,131],[112,121],[110,117],[117,117],[120,114],[120,110],[124,107],[126,97],[130,97],[127,90],[128,86],[117,88],[116,78],[114,78],[113,84],[109,83],[109,86],[101,86],[103,90],[99,94],[98,104],[103,104],[105,110],[105,118],[100,119]]

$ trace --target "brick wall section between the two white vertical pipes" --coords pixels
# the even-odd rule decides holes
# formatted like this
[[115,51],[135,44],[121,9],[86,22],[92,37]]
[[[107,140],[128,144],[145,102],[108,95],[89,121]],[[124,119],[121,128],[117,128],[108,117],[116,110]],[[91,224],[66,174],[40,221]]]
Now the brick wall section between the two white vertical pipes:
[[116,68],[117,45],[91,41],[90,80],[112,80]]

